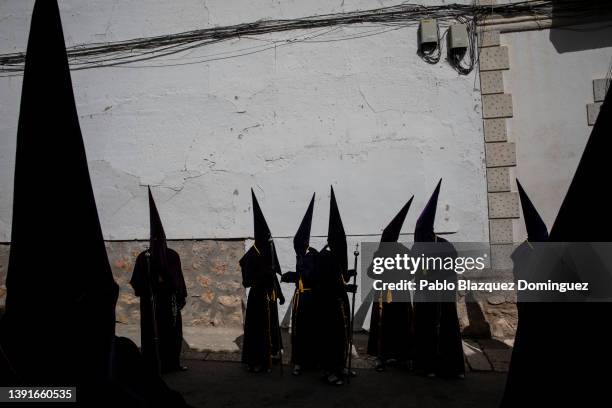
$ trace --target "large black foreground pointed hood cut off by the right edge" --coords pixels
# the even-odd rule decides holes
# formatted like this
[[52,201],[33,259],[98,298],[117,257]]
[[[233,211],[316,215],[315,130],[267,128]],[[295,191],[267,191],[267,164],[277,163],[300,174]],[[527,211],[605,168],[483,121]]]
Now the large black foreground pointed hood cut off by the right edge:
[[[610,88],[612,89],[612,87]],[[550,241],[607,242],[610,240],[609,201],[602,198],[596,180],[609,173],[608,153],[612,149],[612,92],[608,90],[591,131],[574,178],[565,195]]]

